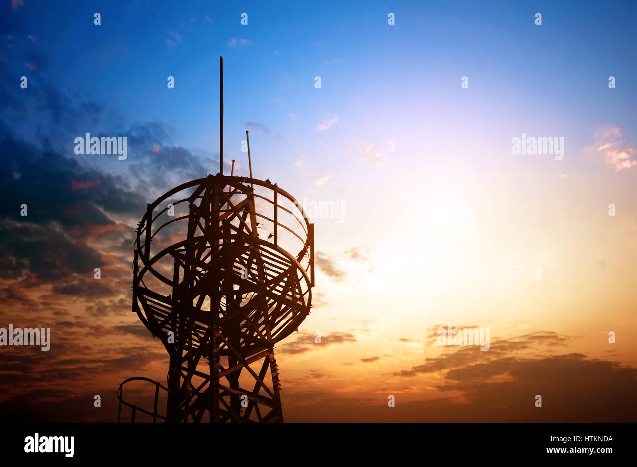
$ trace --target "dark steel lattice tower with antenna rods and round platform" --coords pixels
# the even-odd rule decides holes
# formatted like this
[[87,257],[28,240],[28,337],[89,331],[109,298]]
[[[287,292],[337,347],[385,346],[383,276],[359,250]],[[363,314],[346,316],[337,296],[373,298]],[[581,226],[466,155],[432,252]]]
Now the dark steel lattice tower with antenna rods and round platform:
[[[222,63],[219,173],[148,204],[134,243],[132,310],[168,351],[168,381],[122,382],[118,421],[122,404],[132,421],[283,421],[274,346],[310,313],[313,224],[276,183],[252,178],[249,149],[249,178],[223,174]],[[153,410],[124,401],[132,380],[155,384]]]

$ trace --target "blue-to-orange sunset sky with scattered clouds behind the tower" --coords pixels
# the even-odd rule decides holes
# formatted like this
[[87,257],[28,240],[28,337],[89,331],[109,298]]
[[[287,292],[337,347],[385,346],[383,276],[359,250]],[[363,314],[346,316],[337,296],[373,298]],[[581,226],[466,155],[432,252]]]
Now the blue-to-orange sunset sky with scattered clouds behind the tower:
[[[131,312],[134,228],[217,173],[222,55],[225,171],[248,175],[249,130],[255,178],[341,208],[310,219],[312,313],[275,348],[285,420],[637,419],[634,3],[2,8],[0,327],[52,347],[0,347],[0,416],[114,421],[118,383],[165,382]],[[86,133],[127,159],[75,154]],[[563,158],[512,154],[523,134]]]

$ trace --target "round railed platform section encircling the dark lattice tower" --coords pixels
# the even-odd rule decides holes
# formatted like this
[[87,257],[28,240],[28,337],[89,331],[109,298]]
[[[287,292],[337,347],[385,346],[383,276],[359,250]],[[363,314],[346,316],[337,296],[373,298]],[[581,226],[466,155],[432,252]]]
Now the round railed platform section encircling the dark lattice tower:
[[[148,205],[134,249],[134,310],[167,348],[184,282],[196,320],[192,347],[205,345],[213,323],[232,322],[243,353],[255,354],[296,330],[310,312],[313,225],[296,199],[269,180],[217,175],[169,190]],[[237,322],[241,313],[245,319]]]

